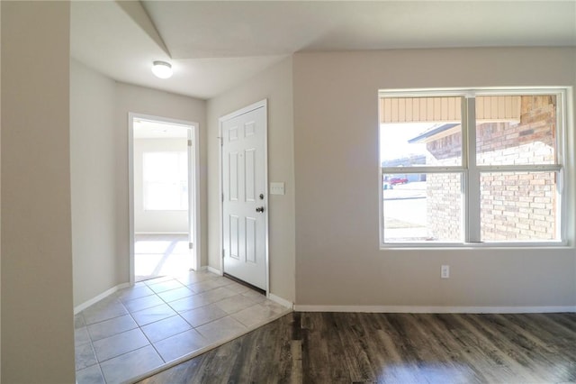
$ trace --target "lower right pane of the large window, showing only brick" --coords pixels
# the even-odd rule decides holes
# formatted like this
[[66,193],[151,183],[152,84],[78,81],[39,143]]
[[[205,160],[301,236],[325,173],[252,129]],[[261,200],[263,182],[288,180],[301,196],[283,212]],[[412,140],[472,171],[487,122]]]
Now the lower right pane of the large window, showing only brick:
[[556,172],[482,173],[482,241],[559,240],[556,178]]

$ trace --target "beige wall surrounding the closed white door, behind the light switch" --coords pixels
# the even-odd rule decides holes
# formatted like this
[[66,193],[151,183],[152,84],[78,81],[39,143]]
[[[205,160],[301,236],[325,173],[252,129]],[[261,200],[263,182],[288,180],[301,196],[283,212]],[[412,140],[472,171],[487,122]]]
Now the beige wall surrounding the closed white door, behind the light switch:
[[294,301],[294,171],[292,59],[276,64],[208,102],[209,265],[220,270],[218,119],[268,99],[268,182],[284,181],[284,196],[268,197],[270,293]]

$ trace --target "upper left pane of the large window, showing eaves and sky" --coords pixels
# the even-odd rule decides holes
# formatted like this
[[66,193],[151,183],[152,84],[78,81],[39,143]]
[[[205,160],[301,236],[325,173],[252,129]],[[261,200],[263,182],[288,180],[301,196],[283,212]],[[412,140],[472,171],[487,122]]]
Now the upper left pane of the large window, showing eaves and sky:
[[462,164],[461,97],[383,97],[383,167]]

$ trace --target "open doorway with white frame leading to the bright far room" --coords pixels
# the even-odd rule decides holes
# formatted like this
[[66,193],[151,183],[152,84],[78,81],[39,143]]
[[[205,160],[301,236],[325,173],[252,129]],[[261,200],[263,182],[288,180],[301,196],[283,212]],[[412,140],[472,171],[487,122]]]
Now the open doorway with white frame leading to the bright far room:
[[198,124],[129,114],[130,284],[199,270]]

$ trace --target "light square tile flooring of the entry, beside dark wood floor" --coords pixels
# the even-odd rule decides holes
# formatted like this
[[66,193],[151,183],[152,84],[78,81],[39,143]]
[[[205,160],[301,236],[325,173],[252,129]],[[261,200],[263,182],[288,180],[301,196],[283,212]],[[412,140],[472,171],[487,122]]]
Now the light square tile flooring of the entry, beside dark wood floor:
[[76,380],[134,381],[289,312],[210,272],[141,281],[76,315]]

